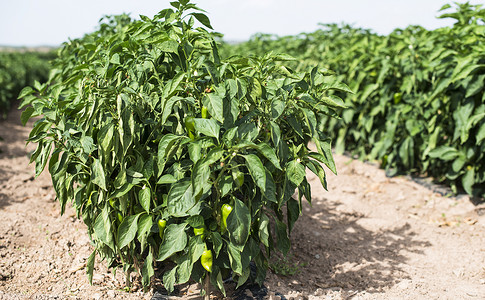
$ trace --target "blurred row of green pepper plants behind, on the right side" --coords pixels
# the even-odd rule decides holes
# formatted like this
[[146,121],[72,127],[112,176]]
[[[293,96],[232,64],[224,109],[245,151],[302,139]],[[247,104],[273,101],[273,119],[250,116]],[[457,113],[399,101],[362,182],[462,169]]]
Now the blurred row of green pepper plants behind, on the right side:
[[355,94],[341,119],[327,119],[335,149],[378,160],[389,175],[414,173],[454,192],[485,196],[485,9],[441,8],[452,27],[396,29],[386,36],[327,24],[313,33],[258,34],[224,53],[285,51],[304,69],[341,74]]

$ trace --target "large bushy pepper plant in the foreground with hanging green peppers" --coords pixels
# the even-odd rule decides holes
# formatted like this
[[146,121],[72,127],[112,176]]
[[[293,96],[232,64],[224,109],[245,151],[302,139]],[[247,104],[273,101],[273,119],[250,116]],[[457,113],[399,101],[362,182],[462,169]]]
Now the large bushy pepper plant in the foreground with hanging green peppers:
[[250,262],[261,284],[311,201],[305,170],[324,186],[321,164],[336,172],[321,120],[343,107],[334,91],[350,90],[286,68],[285,54],[221,59],[204,11],[171,5],[108,18],[64,45],[47,84],[24,89],[23,122],[42,116],[31,160],[51,173],[61,213],[72,202],[87,225],[90,279],[98,253],[145,286],[164,263],[169,291],[205,278],[224,292],[230,272],[250,279]]

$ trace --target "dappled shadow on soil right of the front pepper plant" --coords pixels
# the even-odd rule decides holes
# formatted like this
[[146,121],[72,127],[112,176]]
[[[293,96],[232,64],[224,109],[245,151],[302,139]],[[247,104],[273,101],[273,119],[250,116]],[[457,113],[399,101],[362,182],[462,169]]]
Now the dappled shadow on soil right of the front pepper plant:
[[293,277],[281,277],[296,279],[304,290],[379,292],[409,277],[402,267],[408,253],[422,254],[431,246],[417,239],[407,223],[392,230],[369,230],[358,224],[363,216],[339,212],[339,203],[315,202],[291,234],[294,260],[306,267]]

